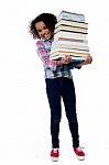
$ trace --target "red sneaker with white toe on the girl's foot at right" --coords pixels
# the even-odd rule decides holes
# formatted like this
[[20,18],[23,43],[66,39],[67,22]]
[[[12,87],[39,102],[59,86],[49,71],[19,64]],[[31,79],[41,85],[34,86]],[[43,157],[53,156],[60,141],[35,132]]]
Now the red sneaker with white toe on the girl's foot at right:
[[74,152],[79,161],[85,160],[85,153],[83,152],[81,147],[74,147]]

